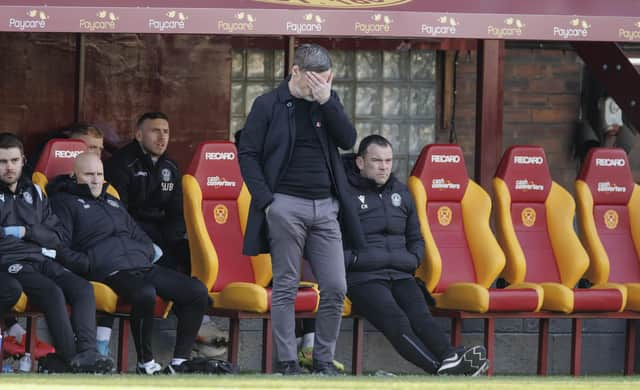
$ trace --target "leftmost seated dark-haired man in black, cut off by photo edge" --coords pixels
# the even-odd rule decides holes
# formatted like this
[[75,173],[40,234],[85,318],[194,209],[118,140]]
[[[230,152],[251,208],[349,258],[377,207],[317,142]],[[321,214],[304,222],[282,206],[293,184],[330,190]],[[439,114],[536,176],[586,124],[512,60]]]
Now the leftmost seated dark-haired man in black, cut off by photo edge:
[[0,274],[17,280],[44,312],[56,352],[74,371],[111,371],[113,361],[95,349],[93,288],[60,264],[59,222],[40,188],[22,175],[23,150],[14,134],[0,134]]

